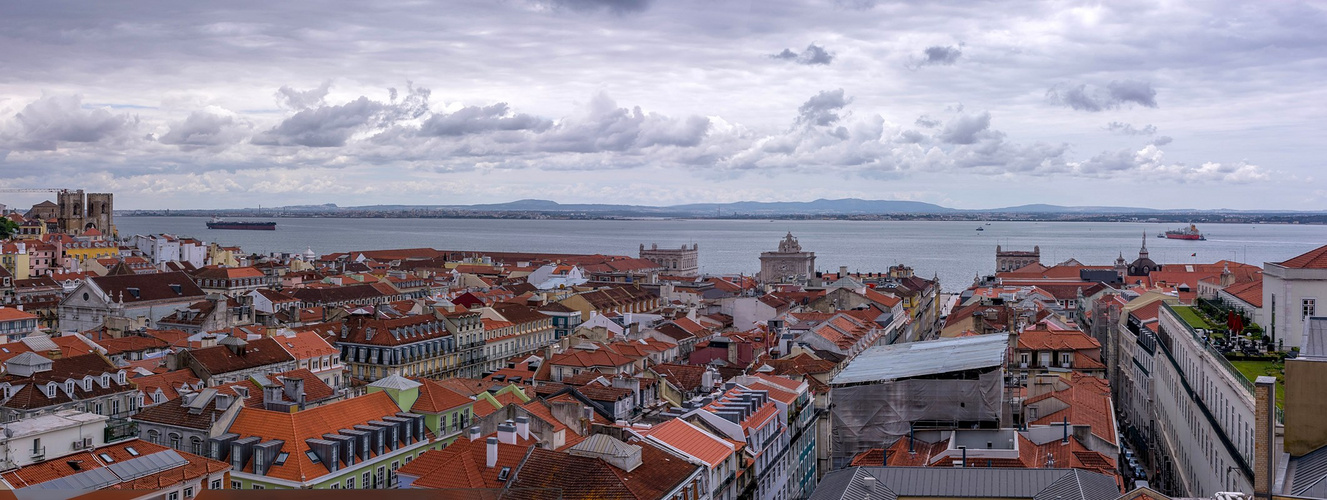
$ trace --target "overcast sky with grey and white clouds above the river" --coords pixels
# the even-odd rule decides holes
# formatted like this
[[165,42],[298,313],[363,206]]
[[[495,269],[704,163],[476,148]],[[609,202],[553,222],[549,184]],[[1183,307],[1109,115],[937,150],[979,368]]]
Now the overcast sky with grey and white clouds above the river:
[[27,1],[0,46],[0,186],[117,208],[1327,206],[1323,4]]

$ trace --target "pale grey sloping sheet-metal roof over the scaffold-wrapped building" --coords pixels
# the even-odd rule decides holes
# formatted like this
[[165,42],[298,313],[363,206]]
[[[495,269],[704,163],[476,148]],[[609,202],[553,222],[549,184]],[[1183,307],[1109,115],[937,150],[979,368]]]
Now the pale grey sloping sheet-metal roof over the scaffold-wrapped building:
[[1007,350],[1005,333],[876,346],[859,354],[829,383],[896,381],[1001,366]]

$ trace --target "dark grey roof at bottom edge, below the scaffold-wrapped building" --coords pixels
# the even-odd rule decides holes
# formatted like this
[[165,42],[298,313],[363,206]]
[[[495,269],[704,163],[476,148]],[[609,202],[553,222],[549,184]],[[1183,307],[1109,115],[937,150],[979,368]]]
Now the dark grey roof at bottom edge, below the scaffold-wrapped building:
[[[867,495],[867,475],[876,485]],[[982,497],[1113,500],[1107,475],[1072,468],[851,467],[824,476],[811,500],[897,497]]]

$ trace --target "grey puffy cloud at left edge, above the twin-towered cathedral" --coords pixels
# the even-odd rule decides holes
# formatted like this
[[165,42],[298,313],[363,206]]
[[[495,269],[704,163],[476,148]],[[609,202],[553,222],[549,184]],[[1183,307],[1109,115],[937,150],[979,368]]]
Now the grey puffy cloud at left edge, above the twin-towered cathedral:
[[113,114],[104,107],[85,109],[80,95],[42,95],[12,119],[17,130],[0,129],[0,142],[11,150],[53,151],[61,143],[122,139],[138,127],[138,117]]

